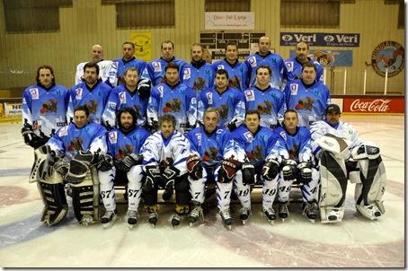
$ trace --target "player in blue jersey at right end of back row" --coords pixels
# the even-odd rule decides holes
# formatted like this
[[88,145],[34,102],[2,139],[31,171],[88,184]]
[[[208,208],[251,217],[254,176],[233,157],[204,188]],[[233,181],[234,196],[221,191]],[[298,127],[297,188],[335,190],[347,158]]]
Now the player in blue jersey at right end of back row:
[[302,66],[306,63],[311,63],[316,66],[316,81],[323,82],[323,66],[319,62],[308,57],[309,45],[306,41],[297,42],[296,57],[289,57],[285,60],[285,66],[288,70],[288,81],[302,79]]

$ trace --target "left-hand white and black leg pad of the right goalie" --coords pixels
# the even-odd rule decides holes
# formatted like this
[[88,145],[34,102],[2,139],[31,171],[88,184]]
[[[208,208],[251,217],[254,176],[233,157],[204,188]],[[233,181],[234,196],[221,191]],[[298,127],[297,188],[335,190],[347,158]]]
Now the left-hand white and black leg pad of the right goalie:
[[[320,158],[321,193],[320,207],[322,221],[327,220],[325,216],[327,207],[342,208],[346,197],[347,170],[344,160],[329,152],[322,152]],[[327,213],[328,214],[328,213]],[[342,217],[338,217],[337,220]]]

